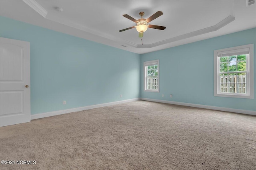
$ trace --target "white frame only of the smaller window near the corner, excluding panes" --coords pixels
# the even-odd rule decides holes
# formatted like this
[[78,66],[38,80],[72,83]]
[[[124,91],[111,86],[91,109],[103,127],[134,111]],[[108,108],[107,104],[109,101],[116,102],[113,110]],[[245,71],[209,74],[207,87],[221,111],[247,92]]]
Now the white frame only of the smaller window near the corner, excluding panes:
[[[158,71],[158,74],[157,74],[158,88],[157,88],[157,90],[148,90],[147,89],[146,77],[148,74],[148,70],[147,70],[146,66],[149,66],[149,65],[157,65],[157,71]],[[158,92],[159,93],[159,80],[160,80],[159,79],[159,60],[145,61],[144,62],[144,92]]]

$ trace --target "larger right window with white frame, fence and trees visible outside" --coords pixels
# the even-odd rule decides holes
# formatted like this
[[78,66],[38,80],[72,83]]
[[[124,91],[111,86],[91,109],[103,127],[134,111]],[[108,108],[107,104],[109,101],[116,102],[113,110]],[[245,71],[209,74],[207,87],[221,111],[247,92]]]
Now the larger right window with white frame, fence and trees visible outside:
[[214,51],[214,96],[254,98],[254,44]]

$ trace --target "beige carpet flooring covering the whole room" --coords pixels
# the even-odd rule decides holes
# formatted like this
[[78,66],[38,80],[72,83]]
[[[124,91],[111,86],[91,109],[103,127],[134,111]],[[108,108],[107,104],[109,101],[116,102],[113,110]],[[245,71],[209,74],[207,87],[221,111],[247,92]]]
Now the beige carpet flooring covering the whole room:
[[256,117],[136,101],[0,128],[0,169],[255,170]]

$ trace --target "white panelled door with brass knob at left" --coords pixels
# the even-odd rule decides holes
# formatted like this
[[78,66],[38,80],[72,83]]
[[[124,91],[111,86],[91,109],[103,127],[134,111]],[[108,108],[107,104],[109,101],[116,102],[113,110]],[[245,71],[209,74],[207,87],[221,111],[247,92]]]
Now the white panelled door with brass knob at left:
[[0,126],[29,122],[30,43],[0,41]]

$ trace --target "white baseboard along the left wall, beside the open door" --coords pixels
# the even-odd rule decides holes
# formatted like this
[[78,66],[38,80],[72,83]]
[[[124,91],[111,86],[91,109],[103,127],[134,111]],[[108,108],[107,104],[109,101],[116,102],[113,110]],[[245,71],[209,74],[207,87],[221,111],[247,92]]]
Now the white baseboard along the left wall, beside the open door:
[[121,101],[117,101],[117,102],[110,102],[110,103],[104,103],[104,104],[96,104],[96,105],[84,106],[84,107],[76,107],[76,108],[72,108],[72,109],[51,111],[51,112],[46,112],[46,113],[38,113],[38,114],[31,115],[30,119],[31,120],[40,119],[40,118],[43,118],[43,117],[62,115],[62,114],[65,114],[65,113],[72,113],[72,112],[76,112],[76,111],[94,109],[94,108],[98,108],[98,107],[105,107],[105,106],[111,106],[111,105],[116,105],[116,104],[134,102],[134,101],[137,101],[137,100],[140,100],[140,98],[121,100]]

